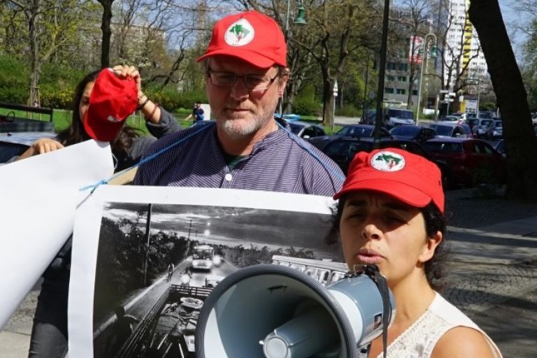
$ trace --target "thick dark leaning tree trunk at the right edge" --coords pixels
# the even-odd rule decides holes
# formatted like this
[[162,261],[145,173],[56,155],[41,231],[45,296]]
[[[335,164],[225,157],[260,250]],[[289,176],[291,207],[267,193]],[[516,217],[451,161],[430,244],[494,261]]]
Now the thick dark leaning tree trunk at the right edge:
[[503,120],[508,152],[507,195],[537,201],[537,138],[498,0],[472,0],[468,15],[478,31]]

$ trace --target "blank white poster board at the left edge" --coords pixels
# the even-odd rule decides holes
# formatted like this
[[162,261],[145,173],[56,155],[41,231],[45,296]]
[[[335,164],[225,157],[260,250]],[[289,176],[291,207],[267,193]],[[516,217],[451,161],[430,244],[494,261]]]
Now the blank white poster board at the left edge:
[[112,174],[110,146],[96,141],[0,166],[0,327],[73,231],[79,189]]

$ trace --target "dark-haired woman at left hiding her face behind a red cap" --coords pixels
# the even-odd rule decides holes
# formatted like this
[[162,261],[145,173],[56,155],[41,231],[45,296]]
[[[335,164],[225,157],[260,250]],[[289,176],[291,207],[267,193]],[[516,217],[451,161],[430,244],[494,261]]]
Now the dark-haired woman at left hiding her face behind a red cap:
[[[133,93],[130,96],[134,97],[134,106],[132,108],[136,109],[136,106],[138,106],[143,111],[147,120],[146,125],[155,137],[164,136],[180,129],[179,124],[172,115],[165,110],[161,110],[143,94],[141,91],[141,78],[134,66],[115,66],[113,71],[118,78],[131,78],[136,83],[135,85],[131,83]],[[107,121],[101,121],[99,127],[91,128],[94,129],[92,136],[87,133],[84,122],[90,106],[90,97],[100,74],[101,71],[89,73],[78,83],[73,99],[74,108],[71,126],[58,134],[56,139],[39,139],[16,159],[51,152],[52,150],[64,148],[66,145],[80,143],[91,138],[106,141],[109,141],[109,138],[113,138],[110,141],[110,145],[115,158],[116,171],[127,169],[141,159],[145,148],[148,148],[149,145],[156,141],[155,137],[141,136],[136,129],[123,125],[123,123],[117,126],[117,124]],[[121,105],[117,101],[115,104],[117,106]],[[99,106],[99,103],[92,103],[92,106]],[[127,113],[127,115],[130,114]],[[94,119],[92,118],[92,120]],[[99,136],[106,138],[99,138]],[[41,293],[38,296],[34,326],[31,331],[30,358],[62,358],[67,353],[67,299],[69,295],[70,263],[71,238],[43,273],[44,280],[41,285]]]

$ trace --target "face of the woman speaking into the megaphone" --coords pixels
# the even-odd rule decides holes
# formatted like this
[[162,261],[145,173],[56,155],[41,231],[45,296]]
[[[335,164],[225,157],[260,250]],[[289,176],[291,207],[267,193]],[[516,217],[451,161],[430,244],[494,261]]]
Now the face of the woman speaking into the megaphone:
[[376,192],[348,194],[339,229],[349,267],[376,264],[390,287],[422,271],[442,238],[427,238],[419,208]]

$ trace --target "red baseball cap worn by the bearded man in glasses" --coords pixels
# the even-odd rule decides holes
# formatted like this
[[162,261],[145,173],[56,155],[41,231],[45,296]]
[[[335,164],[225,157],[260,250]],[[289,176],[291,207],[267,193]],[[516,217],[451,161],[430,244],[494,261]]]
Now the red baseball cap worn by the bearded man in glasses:
[[215,55],[242,59],[261,69],[287,66],[287,45],[273,18],[257,11],[229,15],[213,27],[207,51],[198,62]]

